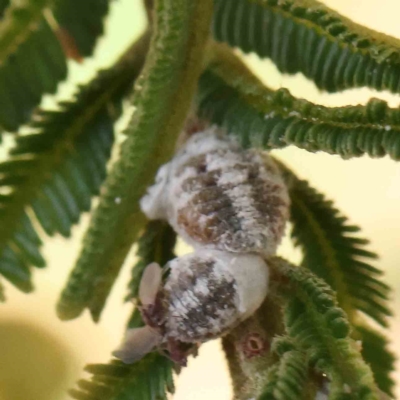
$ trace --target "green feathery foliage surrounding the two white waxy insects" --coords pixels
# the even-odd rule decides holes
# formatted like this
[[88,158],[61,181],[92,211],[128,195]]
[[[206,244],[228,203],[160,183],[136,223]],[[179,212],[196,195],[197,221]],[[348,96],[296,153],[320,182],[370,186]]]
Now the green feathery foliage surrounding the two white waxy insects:
[[[329,108],[271,90],[233,51],[268,57],[282,72],[303,73],[327,91],[368,86],[399,93],[400,42],[315,0],[146,0],[149,29],[125,57],[57,110],[38,110],[43,95],[66,78],[68,59],[92,55],[110,3],[81,0],[76,12],[71,0],[0,1],[0,127],[16,134],[0,163],[0,300],[5,280],[33,289],[32,267],[45,266],[44,234],[69,237],[99,196],[58,314],[71,319],[88,309],[97,321],[135,243],[140,260],[128,297],[137,301],[143,269],[167,262],[175,244],[168,225],[147,224],[138,200],[172,156],[190,110],[247,148],[400,160],[397,108],[378,99]],[[135,112],[108,168],[122,101],[140,72]],[[268,382],[260,398],[308,398],[315,372],[331,380],[332,399],[376,399],[375,383],[390,394],[394,357],[373,325],[387,326],[390,290],[376,256],[330,201],[292,172],[284,175],[292,238],[304,258],[299,268],[278,262],[292,289],[278,294],[286,336],[274,341],[276,363],[262,371]],[[128,325],[141,323],[136,311]],[[155,400],[171,387],[172,365],[155,354],[133,366],[111,361],[89,371],[92,379],[72,392],[77,399]]]

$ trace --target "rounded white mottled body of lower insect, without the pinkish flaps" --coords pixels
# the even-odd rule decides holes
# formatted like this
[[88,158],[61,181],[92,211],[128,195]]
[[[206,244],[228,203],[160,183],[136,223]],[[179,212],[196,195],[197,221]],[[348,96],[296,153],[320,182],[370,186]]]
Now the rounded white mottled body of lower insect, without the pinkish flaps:
[[220,337],[251,315],[267,294],[268,268],[256,255],[198,250],[169,266],[166,326],[183,342]]

